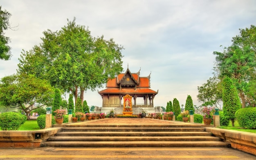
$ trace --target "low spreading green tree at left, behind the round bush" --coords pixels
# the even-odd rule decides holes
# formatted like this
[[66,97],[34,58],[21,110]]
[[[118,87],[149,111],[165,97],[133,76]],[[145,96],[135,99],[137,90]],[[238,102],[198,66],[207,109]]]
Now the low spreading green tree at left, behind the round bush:
[[12,75],[0,80],[0,103],[22,110],[27,119],[32,110],[51,105],[53,96],[49,82],[33,75]]

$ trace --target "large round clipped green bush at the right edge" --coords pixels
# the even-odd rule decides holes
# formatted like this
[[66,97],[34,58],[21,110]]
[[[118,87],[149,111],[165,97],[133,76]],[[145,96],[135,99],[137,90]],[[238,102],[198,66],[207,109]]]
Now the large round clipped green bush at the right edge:
[[242,108],[236,111],[236,118],[240,127],[256,129],[256,108]]

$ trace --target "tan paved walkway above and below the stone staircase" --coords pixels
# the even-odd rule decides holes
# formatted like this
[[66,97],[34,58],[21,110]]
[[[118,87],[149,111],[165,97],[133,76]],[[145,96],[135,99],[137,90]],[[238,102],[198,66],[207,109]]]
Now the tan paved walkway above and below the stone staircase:
[[[77,123],[88,124],[190,124],[177,121],[153,120],[149,118],[106,118]],[[77,124],[77,123],[71,123]],[[0,148],[2,160],[256,160],[256,156],[227,147],[40,147],[40,148]]]

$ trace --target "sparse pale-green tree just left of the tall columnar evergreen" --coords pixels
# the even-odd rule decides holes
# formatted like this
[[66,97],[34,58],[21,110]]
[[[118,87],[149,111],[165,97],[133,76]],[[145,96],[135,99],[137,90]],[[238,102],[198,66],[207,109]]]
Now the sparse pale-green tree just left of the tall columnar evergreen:
[[198,101],[203,102],[202,106],[219,106],[222,100],[222,85],[216,75],[209,78],[202,86],[198,86]]

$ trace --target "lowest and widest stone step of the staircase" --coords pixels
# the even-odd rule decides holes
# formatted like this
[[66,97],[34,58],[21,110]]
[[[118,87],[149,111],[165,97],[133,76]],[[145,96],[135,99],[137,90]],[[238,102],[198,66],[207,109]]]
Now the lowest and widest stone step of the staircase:
[[227,147],[222,141],[47,141],[43,147]]

